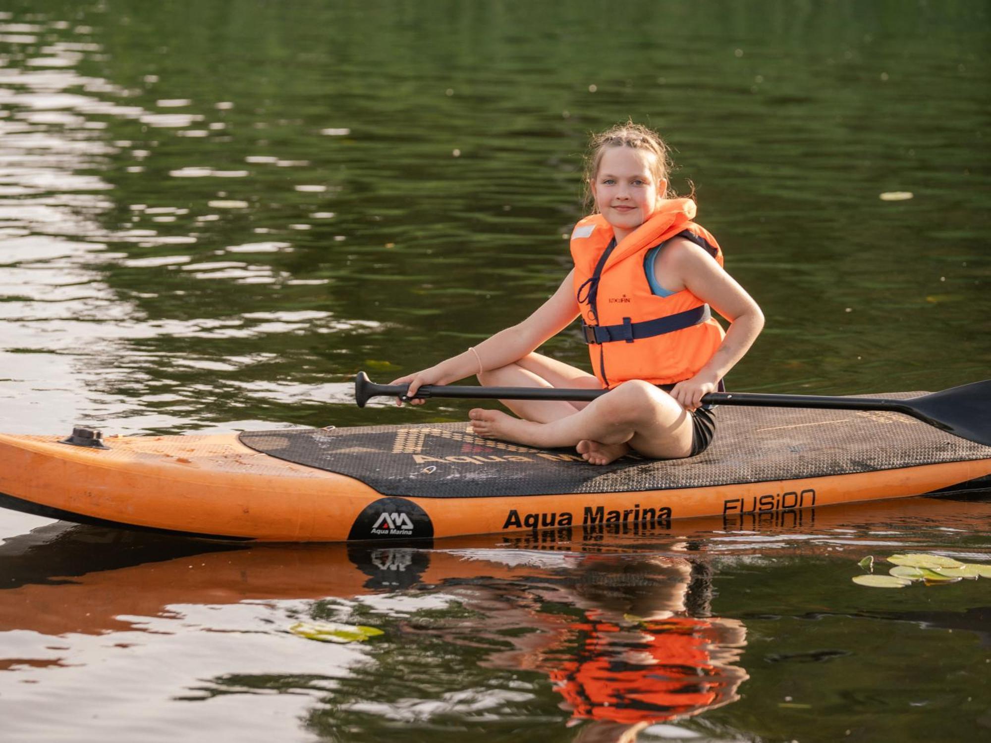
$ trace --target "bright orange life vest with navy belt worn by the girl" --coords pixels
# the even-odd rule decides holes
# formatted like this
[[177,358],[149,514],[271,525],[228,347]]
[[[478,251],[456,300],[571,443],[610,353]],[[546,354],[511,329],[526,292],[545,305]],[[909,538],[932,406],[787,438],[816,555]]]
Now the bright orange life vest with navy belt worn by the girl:
[[691,199],[665,200],[618,245],[601,214],[575,226],[575,291],[592,368],[605,386],[627,379],[653,384],[688,379],[722,342],[722,328],[708,304],[688,289],[654,294],[644,271],[646,251],[674,237],[692,241],[722,265],[716,239],[692,221],[694,216]]

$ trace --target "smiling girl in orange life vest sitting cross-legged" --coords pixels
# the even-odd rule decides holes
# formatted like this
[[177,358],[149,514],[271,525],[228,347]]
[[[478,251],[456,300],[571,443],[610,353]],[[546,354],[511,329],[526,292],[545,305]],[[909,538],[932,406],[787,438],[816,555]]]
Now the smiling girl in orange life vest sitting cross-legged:
[[[596,210],[572,233],[575,267],[554,295],[518,325],[392,383],[408,384],[409,396],[472,373],[483,385],[607,388],[592,402],[504,401],[518,418],[482,408],[469,417],[479,436],[574,446],[593,465],[630,450],[657,459],[703,452],[715,418],[702,397],[750,348],[764,316],[692,221],[695,203],[674,198],[669,169],[667,146],[646,127],[594,137],[586,178]],[[729,321],[725,333],[710,306]],[[579,315],[595,375],[535,353]]]

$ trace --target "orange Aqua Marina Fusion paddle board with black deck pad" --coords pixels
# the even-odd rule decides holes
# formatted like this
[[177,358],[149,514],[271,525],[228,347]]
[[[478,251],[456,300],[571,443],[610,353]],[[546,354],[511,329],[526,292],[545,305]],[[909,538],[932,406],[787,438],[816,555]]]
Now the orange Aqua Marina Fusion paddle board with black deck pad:
[[481,439],[466,423],[0,435],[0,505],[79,523],[297,542],[650,525],[991,488],[991,447],[898,413],[720,406],[716,419],[702,455],[605,467],[573,451]]

